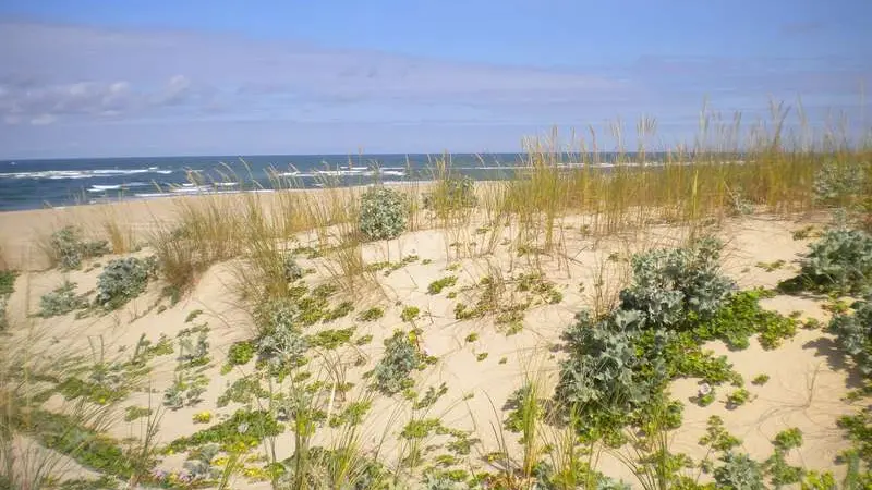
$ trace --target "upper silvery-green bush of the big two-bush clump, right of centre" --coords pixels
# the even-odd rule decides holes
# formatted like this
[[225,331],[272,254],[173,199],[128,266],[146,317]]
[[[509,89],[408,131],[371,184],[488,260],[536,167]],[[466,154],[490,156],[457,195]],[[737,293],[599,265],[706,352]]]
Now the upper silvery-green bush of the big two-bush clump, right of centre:
[[716,238],[704,237],[688,248],[635,255],[633,282],[620,292],[620,308],[641,311],[651,327],[711,319],[736,289],[720,273],[722,248]]

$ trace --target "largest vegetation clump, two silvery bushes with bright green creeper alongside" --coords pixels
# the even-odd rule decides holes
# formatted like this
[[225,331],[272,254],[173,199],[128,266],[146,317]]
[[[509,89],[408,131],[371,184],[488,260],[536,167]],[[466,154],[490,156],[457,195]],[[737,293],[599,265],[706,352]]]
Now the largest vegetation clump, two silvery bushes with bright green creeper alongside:
[[555,402],[573,412],[583,434],[614,436],[641,420],[677,377],[712,385],[740,381],[726,357],[701,348],[729,333],[727,326],[746,328],[723,318],[719,328],[711,324],[735,297],[732,282],[719,273],[718,250],[717,242],[703,238],[690,248],[634,256],[633,282],[618,308],[602,318],[581,311],[564,333],[569,355]]

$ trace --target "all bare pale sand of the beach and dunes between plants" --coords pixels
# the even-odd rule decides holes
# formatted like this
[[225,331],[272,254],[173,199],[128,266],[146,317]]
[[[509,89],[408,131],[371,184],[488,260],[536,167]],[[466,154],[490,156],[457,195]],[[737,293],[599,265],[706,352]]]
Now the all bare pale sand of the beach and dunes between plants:
[[[135,250],[130,254],[147,257],[153,254],[148,245],[153,233],[178,222],[184,215],[183,210],[198,205],[203,205],[204,209],[221,206],[239,210],[256,203],[263,207],[265,215],[276,216],[281,209],[279,203],[282,196],[303,194],[306,203],[314,206],[312,203],[316,201],[337,204],[341,198],[355,199],[360,192],[362,189],[190,196],[0,213],[0,243],[4,255],[14,261],[16,269],[22,270],[15,282],[15,292],[9,301],[8,315],[13,319],[12,323],[31,326],[29,329],[10,331],[10,340],[24,340],[27,332],[40,331],[43,334],[33,346],[40,356],[51,356],[53,350],[60,348],[65,354],[82,353],[87,357],[97,342],[106,358],[121,359],[142,339],[154,343],[165,338],[174,343],[185,329],[202,327],[202,331],[207,332],[205,339],[209,354],[207,364],[198,371],[207,380],[199,395],[201,401],[179,408],[164,408],[154,443],[169,444],[179,438],[190,437],[205,427],[192,422],[197,414],[209,414],[211,420],[232,416],[241,405],[230,403],[221,406],[217,401],[234,381],[257,372],[253,365],[222,369],[227,366],[232,346],[252,339],[258,329],[250,307],[239,295],[240,273],[251,267],[245,265],[246,254],[220,260],[203,270],[177,304],[171,304],[164,296],[160,280],[157,280],[149,282],[143,294],[111,313],[87,315],[82,319],[74,318],[74,314],[41,319],[33,315],[39,310],[44,294],[64,280],[74,282],[76,291],[94,290],[98,286],[100,273],[95,262],[106,265],[117,256],[85,260],[82,269],[69,272],[45,270],[48,262],[40,255],[37,246],[39,241],[72,223],[82,226],[87,236],[99,236],[101,230],[106,230],[106,223],[113,222],[130,234],[131,244],[134,244],[131,249]],[[479,193],[482,192],[480,186]],[[485,456],[494,452],[521,451],[517,436],[500,429],[510,412],[502,402],[524,382],[533,379],[543,392],[553,391],[560,362],[565,357],[555,346],[561,343],[561,334],[574,321],[576,314],[602,301],[596,296],[605,294],[604,289],[617,291],[621,284],[626,285],[628,262],[633,254],[680,246],[687,234],[683,226],[662,223],[611,236],[590,236],[585,233],[585,222],[590,220],[582,216],[561,216],[556,225],[559,248],[552,254],[535,256],[518,253],[514,241],[520,230],[517,224],[495,231],[487,229],[486,218],[479,213],[464,215],[457,221],[448,218],[421,219],[417,229],[404,232],[398,238],[361,245],[364,264],[398,266],[387,269],[387,266],[378,266],[380,268],[377,270],[371,269],[375,271],[367,275],[366,281],[350,289],[338,286],[329,301],[331,304],[349,303],[351,313],[329,322],[319,321],[306,327],[305,331],[315,334],[319,331],[351,329],[353,339],[368,339],[365,343],[340,346],[323,357],[315,356],[307,369],[311,376],[328,384],[337,380],[349,383],[351,388],[341,393],[344,401],[363,400],[361,397],[371,400],[372,407],[359,433],[362,449],[377,449],[378,457],[384,461],[402,461],[409,457],[410,441],[399,437],[399,429],[408,427],[412,420],[437,419],[445,427],[465,431],[470,439],[477,441],[472,444],[472,453],[465,456],[470,467],[487,467]],[[795,232],[803,226],[822,226],[824,222],[823,215],[787,219],[763,213],[724,219],[712,226],[711,232],[725,243],[724,273],[732,278],[741,290],[750,290],[774,287],[778,281],[796,274],[796,262],[812,238],[796,240]],[[339,284],[340,278],[335,272],[336,261],[328,247],[337,245],[332,240],[341,238],[337,238],[339,235],[328,237],[327,234],[318,230],[301,231],[280,241],[280,247],[287,250],[327,250],[324,255],[295,253],[300,268],[310,271],[302,280],[310,287]],[[783,261],[784,266],[773,270],[760,266],[776,261]],[[510,284],[514,284],[519,277],[531,272],[547,278],[548,291],[558,292],[560,301],[552,304],[540,298],[524,299],[529,305],[523,319],[516,326],[518,331],[507,333],[506,326],[499,324],[491,315],[469,320],[457,319],[457,304],[474,303],[479,294],[476,289],[484,283],[483,278],[493,281],[494,274],[498,273],[507,287],[512,287]],[[449,286],[452,294],[433,294],[428,290],[429,284],[447,277],[456,278],[456,282]],[[608,285],[604,286],[606,282]],[[523,294],[511,293],[504,301],[514,302],[519,299],[514,295]],[[785,316],[792,314],[801,321],[815,319],[826,323],[831,316],[822,308],[825,301],[821,298],[779,294],[764,299],[762,305]],[[409,307],[416,308],[413,319],[403,318]],[[372,321],[362,321],[362,313],[372,308],[384,310],[384,315]],[[434,359],[413,375],[415,387],[420,387],[416,390],[423,393],[427,387],[445,387],[444,393],[432,405],[422,408],[414,408],[414,404],[399,395],[368,397],[372,395],[367,394],[367,381],[363,375],[373,369],[383,356],[385,340],[390,339],[397,329],[404,331],[411,328],[419,332],[417,347]],[[730,407],[724,401],[729,390],[722,389],[713,405],[698,406],[690,400],[697,395],[699,379],[675,380],[668,393],[680,401],[685,409],[681,427],[671,432],[671,450],[693,460],[706,457],[706,451],[711,450],[698,441],[705,434],[710,417],[716,415],[723,418],[730,433],[741,439],[741,449],[755,458],[765,458],[772,453],[772,440],[776,433],[787,428],[799,428],[804,443],[790,455],[791,462],[801,463],[806,468],[833,470],[837,476],[843,475],[845,468],[836,463],[837,456],[849,444],[836,422],[840,416],[853,409],[852,404],[843,399],[851,388],[856,388],[857,381],[833,360],[829,352],[833,342],[833,336],[820,329],[800,329],[795,336],[786,339],[774,350],[764,350],[753,340],[748,348],[735,352],[720,342],[706,344],[704,348],[711,348],[717,356],[726,356],[746,380],[750,400],[742,406]],[[332,364],[328,366],[327,359],[332,359]],[[149,363],[150,371],[146,378],[137,380],[149,389],[144,392],[133,390],[119,402],[119,407],[160,406],[162,393],[179,376],[179,366],[172,355],[155,357]],[[750,380],[760,375],[766,375],[768,382],[751,385]],[[328,393],[326,409],[339,409],[342,405],[337,402],[339,395],[336,384],[334,391],[328,390]],[[58,407],[68,403],[59,395],[49,400],[50,405],[57,404]],[[135,434],[141,428],[141,419],[117,421],[107,428],[107,433],[121,440]],[[541,430],[543,444],[548,438],[557,438],[560,433],[557,428],[543,427]],[[340,436],[341,430],[325,428],[315,436],[313,444],[330,446]],[[270,443],[268,451],[275,452],[278,460],[290,457],[294,452],[293,440],[292,433],[279,436]],[[416,451],[423,451],[424,446],[439,446],[449,440],[450,437],[445,433],[429,433],[422,441],[415,441],[420,443]],[[265,449],[258,445],[246,454],[254,457]],[[594,449],[598,471],[611,478],[633,480],[631,468],[621,463],[621,451],[629,450],[596,444]],[[168,454],[157,467],[161,471],[179,471],[184,461],[183,454]],[[424,452],[421,457],[433,457],[436,453],[431,456],[427,454]],[[89,474],[77,464],[69,466],[73,469],[68,476]],[[239,475],[233,478],[233,488],[269,488],[268,482],[258,482],[257,478]],[[700,474],[698,478],[705,481],[711,475]]]

